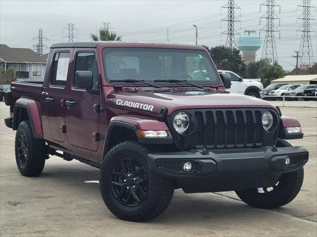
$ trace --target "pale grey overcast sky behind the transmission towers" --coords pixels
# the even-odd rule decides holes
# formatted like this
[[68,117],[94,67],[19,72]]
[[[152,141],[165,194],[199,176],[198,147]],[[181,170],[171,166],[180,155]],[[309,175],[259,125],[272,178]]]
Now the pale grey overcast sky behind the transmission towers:
[[[244,34],[244,30],[259,31],[265,29],[265,19],[260,17],[265,14],[265,6],[260,4],[265,0],[235,0],[241,7],[236,9],[236,16],[241,24],[236,22],[235,30]],[[316,1],[312,1],[315,3]],[[49,40],[44,43],[50,46],[52,43],[67,41],[67,31],[62,29],[67,27],[67,23],[75,24],[78,29],[79,41],[90,39],[90,33],[96,33],[96,27],[102,27],[102,22],[110,22],[110,27],[122,36],[122,40],[127,41],[149,41],[166,42],[167,28],[169,31],[169,42],[195,44],[195,29],[198,27],[198,43],[215,46],[224,44],[226,35],[221,36],[221,32],[226,31],[226,22],[221,23],[221,19],[226,17],[226,10],[221,6],[227,0],[209,1],[93,1],[93,0],[38,0],[38,1],[14,1],[0,0],[0,43],[10,47],[32,47],[36,42],[32,38],[38,35],[39,28],[43,29],[43,36]],[[280,26],[275,21],[277,53],[279,63],[285,69],[293,68],[290,64],[295,64],[296,60],[292,56],[294,51],[299,50],[302,23],[297,20],[301,15],[301,8],[297,5],[302,0],[276,0],[281,7]],[[241,16],[240,16],[241,10]],[[316,19],[316,10],[312,11],[312,16]],[[264,15],[265,16],[265,15]],[[240,29],[241,25],[241,29]],[[311,23],[312,29],[316,30],[316,21]],[[264,40],[265,32],[261,32]],[[221,36],[221,37],[220,37]],[[315,61],[317,61],[317,37],[316,33],[311,33],[314,47]],[[77,40],[77,39],[76,39]],[[238,41],[238,36],[236,36]],[[47,50],[46,50],[47,51]],[[262,48],[257,52],[257,59],[261,58]]]

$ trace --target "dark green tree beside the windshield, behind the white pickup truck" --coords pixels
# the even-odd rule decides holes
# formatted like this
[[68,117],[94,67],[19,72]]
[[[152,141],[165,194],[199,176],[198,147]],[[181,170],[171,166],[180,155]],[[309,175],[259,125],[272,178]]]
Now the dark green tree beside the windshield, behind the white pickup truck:
[[239,49],[232,49],[223,45],[209,48],[204,46],[211,55],[211,58],[219,70],[235,72],[241,77],[245,76],[246,65],[242,60]]

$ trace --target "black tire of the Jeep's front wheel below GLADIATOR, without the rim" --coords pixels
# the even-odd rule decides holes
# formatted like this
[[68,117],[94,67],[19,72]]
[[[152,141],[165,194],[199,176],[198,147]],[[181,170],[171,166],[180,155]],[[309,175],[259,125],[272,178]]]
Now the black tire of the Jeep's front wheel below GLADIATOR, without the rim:
[[[148,149],[136,141],[126,141],[114,146],[106,155],[100,169],[100,191],[107,208],[116,217],[134,222],[143,222],[159,216],[169,205],[174,186],[171,180],[151,173],[147,164]],[[149,189],[147,197],[137,206],[125,206],[111,190],[111,172],[120,159],[133,158],[147,170]]]

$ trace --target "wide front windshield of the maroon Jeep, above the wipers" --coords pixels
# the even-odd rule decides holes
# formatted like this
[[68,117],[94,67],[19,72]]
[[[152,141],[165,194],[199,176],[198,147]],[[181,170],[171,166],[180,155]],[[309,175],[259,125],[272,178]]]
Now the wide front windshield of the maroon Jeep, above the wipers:
[[[219,76],[205,51],[165,48],[105,48],[107,81],[183,79],[196,84],[218,84]],[[111,81],[111,83],[120,83]],[[175,82],[176,83],[176,82]]]

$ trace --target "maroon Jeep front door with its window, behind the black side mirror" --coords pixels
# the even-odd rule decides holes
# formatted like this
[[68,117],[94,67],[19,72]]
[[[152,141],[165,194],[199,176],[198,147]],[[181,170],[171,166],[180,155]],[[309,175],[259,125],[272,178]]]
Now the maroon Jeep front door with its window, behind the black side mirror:
[[[86,49],[87,50],[87,49]],[[100,90],[95,51],[75,49],[74,76],[76,71],[93,72],[93,89]],[[100,93],[88,93],[76,88],[74,78],[70,83],[71,92],[65,101],[67,107],[66,128],[69,143],[73,146],[91,151],[98,150],[98,121]]]

